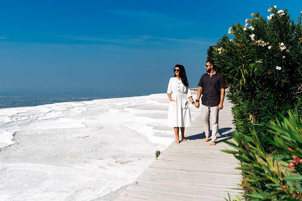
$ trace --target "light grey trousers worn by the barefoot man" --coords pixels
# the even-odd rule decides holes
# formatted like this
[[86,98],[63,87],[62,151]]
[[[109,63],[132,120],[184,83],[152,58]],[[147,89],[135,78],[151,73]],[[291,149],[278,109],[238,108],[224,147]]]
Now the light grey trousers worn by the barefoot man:
[[217,140],[218,135],[218,106],[208,107],[201,104],[202,114],[204,116],[204,132],[207,137],[210,136],[210,116],[212,119],[212,141]]

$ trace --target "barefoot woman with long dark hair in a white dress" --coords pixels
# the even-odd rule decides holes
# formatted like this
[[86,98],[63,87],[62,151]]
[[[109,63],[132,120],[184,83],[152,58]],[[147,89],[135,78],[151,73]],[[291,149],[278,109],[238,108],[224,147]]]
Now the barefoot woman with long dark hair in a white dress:
[[167,90],[170,99],[168,126],[174,127],[175,143],[179,144],[179,127],[182,132],[182,141],[186,141],[185,127],[192,125],[188,98],[194,106],[195,102],[192,99],[185,67],[177,64],[174,73],[174,77],[170,78]]

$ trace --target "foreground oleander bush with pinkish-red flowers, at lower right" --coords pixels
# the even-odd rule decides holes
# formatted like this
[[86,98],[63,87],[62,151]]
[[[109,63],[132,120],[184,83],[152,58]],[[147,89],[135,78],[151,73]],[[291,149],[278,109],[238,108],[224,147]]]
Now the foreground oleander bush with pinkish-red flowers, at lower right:
[[[222,150],[241,162],[242,167],[237,169],[243,170],[244,179],[239,185],[249,200],[302,199],[302,117],[297,110],[295,113],[289,111],[288,117],[279,115],[282,120],[277,118],[266,128],[274,136],[274,140],[267,140],[282,153],[268,156],[255,130],[250,136],[239,135],[235,131],[233,138],[236,143],[225,143],[238,151]],[[248,146],[242,143],[243,138]]]

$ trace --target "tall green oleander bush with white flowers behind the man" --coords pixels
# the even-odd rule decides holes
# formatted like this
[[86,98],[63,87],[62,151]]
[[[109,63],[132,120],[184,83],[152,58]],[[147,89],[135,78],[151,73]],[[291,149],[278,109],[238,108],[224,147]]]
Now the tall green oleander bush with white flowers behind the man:
[[[265,125],[279,112],[301,108],[302,25],[287,9],[269,8],[267,19],[258,12],[246,24],[233,24],[213,51],[217,70],[230,87],[234,124],[239,135],[257,133],[264,151],[280,151]],[[210,51],[210,49],[209,49]],[[243,141],[245,139],[242,139]],[[278,150],[279,149],[279,150]]]

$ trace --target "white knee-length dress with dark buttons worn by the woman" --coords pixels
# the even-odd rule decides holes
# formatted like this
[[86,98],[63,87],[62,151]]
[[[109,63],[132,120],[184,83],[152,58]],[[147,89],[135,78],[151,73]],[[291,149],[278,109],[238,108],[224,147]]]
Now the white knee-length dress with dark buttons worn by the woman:
[[192,96],[190,86],[182,84],[176,77],[170,78],[167,94],[171,94],[174,101],[170,101],[168,112],[168,126],[188,127],[192,125],[188,97]]

